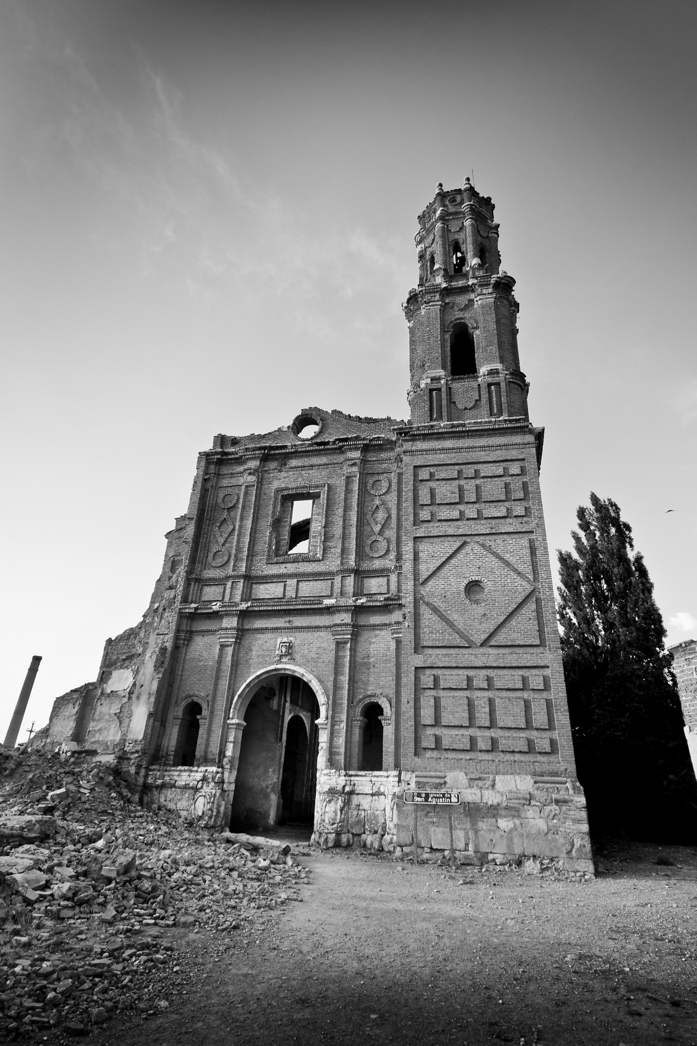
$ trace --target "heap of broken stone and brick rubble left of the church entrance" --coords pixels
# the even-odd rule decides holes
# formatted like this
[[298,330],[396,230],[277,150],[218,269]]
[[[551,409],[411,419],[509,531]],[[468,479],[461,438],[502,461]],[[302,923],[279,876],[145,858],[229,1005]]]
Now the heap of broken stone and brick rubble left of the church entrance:
[[0,1036],[165,1009],[185,930],[248,934],[300,900],[289,846],[234,839],[141,810],[103,763],[0,749]]

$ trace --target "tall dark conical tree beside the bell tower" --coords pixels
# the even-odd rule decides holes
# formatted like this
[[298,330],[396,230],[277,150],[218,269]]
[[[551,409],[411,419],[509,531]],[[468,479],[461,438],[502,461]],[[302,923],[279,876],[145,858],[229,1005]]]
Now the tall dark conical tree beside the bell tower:
[[693,842],[697,787],[653,585],[631,527],[593,492],[559,558],[558,617],[579,780],[595,835]]

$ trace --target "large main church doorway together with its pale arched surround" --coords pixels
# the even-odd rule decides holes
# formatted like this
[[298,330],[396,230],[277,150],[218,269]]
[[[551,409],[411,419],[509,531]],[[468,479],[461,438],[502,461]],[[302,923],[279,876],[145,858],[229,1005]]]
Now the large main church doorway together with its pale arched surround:
[[269,665],[230,705],[224,756],[224,823],[237,829],[311,823],[326,763],[328,702],[297,665]]

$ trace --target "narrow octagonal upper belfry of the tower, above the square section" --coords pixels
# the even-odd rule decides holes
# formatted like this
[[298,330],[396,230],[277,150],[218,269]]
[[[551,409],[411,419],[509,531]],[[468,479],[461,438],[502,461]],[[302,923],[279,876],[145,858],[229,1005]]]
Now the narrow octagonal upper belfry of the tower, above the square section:
[[515,280],[499,268],[493,209],[466,178],[451,191],[439,183],[419,214],[419,286],[404,305],[415,425],[528,417]]

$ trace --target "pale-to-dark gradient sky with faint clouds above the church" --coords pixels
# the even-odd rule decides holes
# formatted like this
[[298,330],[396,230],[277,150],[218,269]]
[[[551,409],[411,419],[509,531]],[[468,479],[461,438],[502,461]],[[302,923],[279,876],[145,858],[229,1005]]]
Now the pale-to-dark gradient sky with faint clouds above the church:
[[[697,5],[3,0],[2,701],[138,622],[217,432],[408,417],[416,215],[491,196],[554,550],[595,491],[697,637]],[[673,509],[673,511],[668,511]]]

